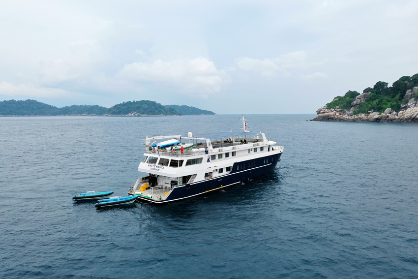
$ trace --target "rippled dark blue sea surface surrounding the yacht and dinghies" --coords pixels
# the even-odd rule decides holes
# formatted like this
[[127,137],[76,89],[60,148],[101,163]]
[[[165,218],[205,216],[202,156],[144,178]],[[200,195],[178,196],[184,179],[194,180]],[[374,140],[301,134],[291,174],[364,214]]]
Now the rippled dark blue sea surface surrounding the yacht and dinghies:
[[417,278],[418,124],[247,115],[274,173],[165,206],[126,196],[146,135],[239,131],[237,115],[1,117],[0,278]]

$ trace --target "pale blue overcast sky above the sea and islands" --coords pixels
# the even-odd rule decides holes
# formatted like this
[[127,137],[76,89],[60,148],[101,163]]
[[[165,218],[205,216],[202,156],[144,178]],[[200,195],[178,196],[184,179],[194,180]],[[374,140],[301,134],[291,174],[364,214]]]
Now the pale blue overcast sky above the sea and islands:
[[0,100],[315,113],[418,73],[417,0],[1,1]]

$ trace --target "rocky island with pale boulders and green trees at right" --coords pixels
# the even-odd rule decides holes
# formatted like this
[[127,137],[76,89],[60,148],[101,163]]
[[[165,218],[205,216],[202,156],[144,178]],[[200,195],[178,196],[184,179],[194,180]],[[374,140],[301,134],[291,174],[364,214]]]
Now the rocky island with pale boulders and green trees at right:
[[403,76],[391,87],[379,81],[363,93],[348,91],[319,108],[312,121],[418,123],[418,74]]

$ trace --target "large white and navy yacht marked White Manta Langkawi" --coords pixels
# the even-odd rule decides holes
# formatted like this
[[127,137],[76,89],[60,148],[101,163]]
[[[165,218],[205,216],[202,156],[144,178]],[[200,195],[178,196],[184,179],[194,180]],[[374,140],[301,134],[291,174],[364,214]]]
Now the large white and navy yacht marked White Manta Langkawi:
[[142,203],[162,204],[261,178],[280,161],[283,147],[265,133],[251,133],[242,116],[242,131],[214,135],[147,136],[145,159],[138,171],[148,173],[128,195]]

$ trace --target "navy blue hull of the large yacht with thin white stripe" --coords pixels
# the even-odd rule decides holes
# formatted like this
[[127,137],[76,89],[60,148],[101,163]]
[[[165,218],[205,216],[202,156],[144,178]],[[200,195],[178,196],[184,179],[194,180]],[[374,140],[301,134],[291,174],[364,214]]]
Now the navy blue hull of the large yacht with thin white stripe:
[[154,201],[144,197],[138,197],[137,201],[143,203],[167,203],[188,197],[206,195],[243,182],[259,179],[274,171],[280,156],[281,153],[234,163],[233,169],[229,174],[205,181],[176,186],[169,196],[162,201]]

